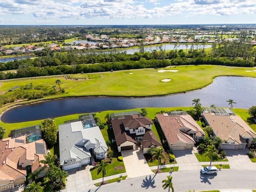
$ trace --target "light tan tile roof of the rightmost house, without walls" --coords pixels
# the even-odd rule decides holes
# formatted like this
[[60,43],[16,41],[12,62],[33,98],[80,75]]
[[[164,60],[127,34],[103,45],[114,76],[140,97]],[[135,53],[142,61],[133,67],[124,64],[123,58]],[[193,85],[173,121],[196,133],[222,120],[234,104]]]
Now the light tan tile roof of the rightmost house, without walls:
[[220,116],[214,113],[203,113],[204,118],[216,136],[236,144],[246,143],[243,137],[256,138],[256,133],[236,115]]

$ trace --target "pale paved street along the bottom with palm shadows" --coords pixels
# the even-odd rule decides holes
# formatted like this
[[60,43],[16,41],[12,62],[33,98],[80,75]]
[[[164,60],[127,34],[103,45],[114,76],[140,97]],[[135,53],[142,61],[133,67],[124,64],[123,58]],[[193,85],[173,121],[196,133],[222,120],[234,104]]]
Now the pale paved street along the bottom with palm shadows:
[[[84,192],[161,192],[162,180],[168,173],[154,174],[144,177],[131,178],[120,183],[103,185]],[[204,191],[218,189],[256,189],[256,171],[221,170],[216,176],[201,175],[197,171],[173,172],[173,186],[175,192],[188,190]]]

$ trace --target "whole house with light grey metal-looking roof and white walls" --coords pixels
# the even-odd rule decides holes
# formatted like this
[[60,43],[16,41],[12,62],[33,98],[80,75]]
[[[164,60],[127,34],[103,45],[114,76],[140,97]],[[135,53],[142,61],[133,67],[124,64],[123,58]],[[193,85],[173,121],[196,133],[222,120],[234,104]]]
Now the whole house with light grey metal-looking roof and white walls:
[[90,164],[90,158],[104,159],[108,146],[98,126],[82,121],[59,125],[60,166],[69,170]]

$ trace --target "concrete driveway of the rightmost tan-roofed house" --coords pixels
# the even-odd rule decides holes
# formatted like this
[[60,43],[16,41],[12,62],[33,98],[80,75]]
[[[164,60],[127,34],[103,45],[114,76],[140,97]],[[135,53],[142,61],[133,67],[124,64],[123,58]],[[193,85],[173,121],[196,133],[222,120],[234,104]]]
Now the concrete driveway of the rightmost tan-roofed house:
[[256,170],[256,164],[252,163],[247,153],[249,149],[246,148],[238,150],[224,149],[229,161],[230,169],[242,169],[242,170]]

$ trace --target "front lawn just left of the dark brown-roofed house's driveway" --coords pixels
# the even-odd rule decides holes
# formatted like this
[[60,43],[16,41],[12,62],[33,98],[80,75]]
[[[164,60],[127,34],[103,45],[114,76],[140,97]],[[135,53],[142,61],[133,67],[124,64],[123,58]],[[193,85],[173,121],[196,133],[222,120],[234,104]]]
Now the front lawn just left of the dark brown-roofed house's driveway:
[[[117,158],[113,158],[112,164],[110,164],[110,165],[108,165],[106,167],[106,170],[107,170],[106,176],[110,176],[110,175],[115,175],[115,174],[120,174],[120,173],[126,172],[125,167],[122,170],[116,170],[115,171],[114,168],[116,166],[123,166],[124,167],[124,162],[119,162],[117,160]],[[100,172],[100,174],[97,174],[97,170],[96,169],[91,171],[91,175],[92,175],[92,180],[102,178],[102,172]]]

